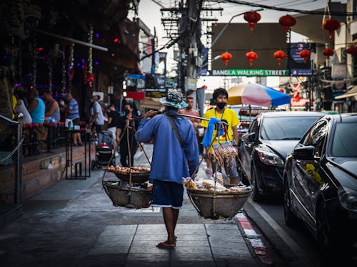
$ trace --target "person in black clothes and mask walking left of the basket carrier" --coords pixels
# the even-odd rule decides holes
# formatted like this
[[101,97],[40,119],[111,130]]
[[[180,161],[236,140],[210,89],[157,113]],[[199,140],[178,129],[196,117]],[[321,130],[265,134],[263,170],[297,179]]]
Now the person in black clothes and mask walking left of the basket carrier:
[[116,130],[116,140],[120,147],[120,162],[122,167],[134,166],[134,155],[138,148],[135,132],[139,127],[139,117],[134,114],[134,104],[124,105],[125,115],[119,118]]

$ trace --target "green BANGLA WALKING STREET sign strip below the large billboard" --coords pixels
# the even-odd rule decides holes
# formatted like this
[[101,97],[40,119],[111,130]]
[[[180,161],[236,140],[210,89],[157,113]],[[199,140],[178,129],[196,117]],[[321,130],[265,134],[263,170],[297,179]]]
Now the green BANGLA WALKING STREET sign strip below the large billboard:
[[288,76],[289,70],[231,69],[212,70],[213,76]]

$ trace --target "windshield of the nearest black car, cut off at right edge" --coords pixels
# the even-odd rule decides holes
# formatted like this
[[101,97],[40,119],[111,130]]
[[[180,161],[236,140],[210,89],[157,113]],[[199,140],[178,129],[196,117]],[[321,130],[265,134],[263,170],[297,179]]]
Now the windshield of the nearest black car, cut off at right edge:
[[357,122],[339,122],[333,135],[332,157],[357,157]]

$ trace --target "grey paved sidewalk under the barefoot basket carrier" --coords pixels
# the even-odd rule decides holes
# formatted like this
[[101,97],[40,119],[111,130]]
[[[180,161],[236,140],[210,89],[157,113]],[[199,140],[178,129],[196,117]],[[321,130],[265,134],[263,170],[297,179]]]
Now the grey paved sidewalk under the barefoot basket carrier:
[[[144,155],[136,164],[147,164]],[[102,175],[62,180],[27,199],[24,215],[0,229],[1,266],[263,266],[236,220],[198,217],[186,193],[176,248],[156,248],[167,237],[161,210],[113,206]]]

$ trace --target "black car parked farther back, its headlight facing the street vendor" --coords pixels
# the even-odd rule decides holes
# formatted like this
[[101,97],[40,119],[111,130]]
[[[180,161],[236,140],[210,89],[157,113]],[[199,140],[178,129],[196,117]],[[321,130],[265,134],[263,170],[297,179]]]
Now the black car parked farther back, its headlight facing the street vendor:
[[283,169],[288,152],[320,112],[276,111],[259,114],[242,137],[241,170],[252,186],[254,201],[266,194],[283,194]]

